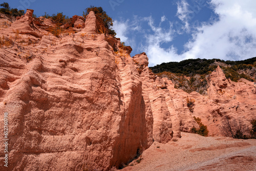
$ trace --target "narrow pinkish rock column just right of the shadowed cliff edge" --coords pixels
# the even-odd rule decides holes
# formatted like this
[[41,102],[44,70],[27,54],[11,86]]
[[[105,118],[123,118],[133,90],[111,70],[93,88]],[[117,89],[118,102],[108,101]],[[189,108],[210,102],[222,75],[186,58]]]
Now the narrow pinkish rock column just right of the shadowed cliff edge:
[[148,58],[145,53],[133,57],[137,70],[142,79],[142,89],[145,98],[149,98],[147,105],[151,106],[153,114],[153,140],[166,143],[173,137],[172,119],[165,100],[165,91],[160,84],[166,88],[166,80],[152,79],[147,67]]

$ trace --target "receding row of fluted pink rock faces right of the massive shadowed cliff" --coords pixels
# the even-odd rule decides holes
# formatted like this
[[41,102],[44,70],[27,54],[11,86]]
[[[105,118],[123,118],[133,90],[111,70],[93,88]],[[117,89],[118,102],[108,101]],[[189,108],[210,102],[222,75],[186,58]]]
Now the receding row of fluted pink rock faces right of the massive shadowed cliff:
[[[172,120],[170,122],[172,131],[170,132],[172,132],[173,137],[179,137],[180,131],[190,132],[192,127],[199,127],[194,116],[199,117],[202,123],[207,125],[209,136],[221,135],[220,126],[225,116],[236,119],[246,127],[251,127],[250,121],[255,117],[256,109],[256,90],[253,87],[253,82],[243,78],[239,82],[233,82],[225,77],[218,66],[216,71],[207,78],[210,86],[205,96],[197,92],[188,94],[183,90],[175,89],[174,83],[167,78],[159,78],[151,73],[146,67],[147,57],[144,53],[135,55],[134,60],[135,63],[139,64],[138,70],[142,78],[143,90],[152,98],[153,128],[155,128],[153,129],[153,137],[154,133],[160,135],[159,132],[162,132],[159,125],[164,125],[164,123],[159,124],[158,120],[164,122],[165,118],[168,117]],[[161,103],[154,105],[158,102],[157,99],[160,99]],[[190,109],[187,105],[189,100],[194,101],[194,105]],[[168,114],[161,118],[161,113],[166,111],[165,105],[168,108]],[[164,126],[165,130],[168,130],[167,127]],[[163,139],[168,141],[166,137]],[[165,142],[159,137],[155,137],[154,140]]]

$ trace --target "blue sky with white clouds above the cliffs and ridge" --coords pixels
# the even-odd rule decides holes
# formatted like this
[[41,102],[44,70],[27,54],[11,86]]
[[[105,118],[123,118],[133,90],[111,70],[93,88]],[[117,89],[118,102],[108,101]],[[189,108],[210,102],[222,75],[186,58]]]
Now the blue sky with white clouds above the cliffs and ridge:
[[150,66],[189,58],[243,60],[256,56],[256,1],[39,1],[12,0],[11,8],[82,15],[101,6],[114,20],[116,37],[131,46],[131,56],[146,52]]

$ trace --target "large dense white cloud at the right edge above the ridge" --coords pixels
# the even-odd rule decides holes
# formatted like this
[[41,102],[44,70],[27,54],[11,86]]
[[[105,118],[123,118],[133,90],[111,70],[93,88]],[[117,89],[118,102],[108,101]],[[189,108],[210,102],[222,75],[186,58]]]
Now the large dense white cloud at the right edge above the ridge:
[[256,2],[212,0],[220,16],[213,25],[203,25],[187,42],[185,58],[221,58],[243,60],[256,56],[256,12],[248,6]]

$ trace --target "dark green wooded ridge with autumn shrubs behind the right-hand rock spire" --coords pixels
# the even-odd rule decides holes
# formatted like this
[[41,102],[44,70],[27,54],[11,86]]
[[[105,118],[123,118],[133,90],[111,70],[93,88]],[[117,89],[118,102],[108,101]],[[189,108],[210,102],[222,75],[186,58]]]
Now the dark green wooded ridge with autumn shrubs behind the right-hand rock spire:
[[246,72],[247,70],[256,71],[256,57],[241,61],[187,59],[180,62],[161,63],[150,68],[156,75],[172,80],[177,89],[187,93],[196,91],[205,94],[208,89],[207,77],[217,68],[218,63],[226,78],[230,78],[231,81],[237,82],[240,78],[255,81],[255,72],[251,72],[251,75]]

